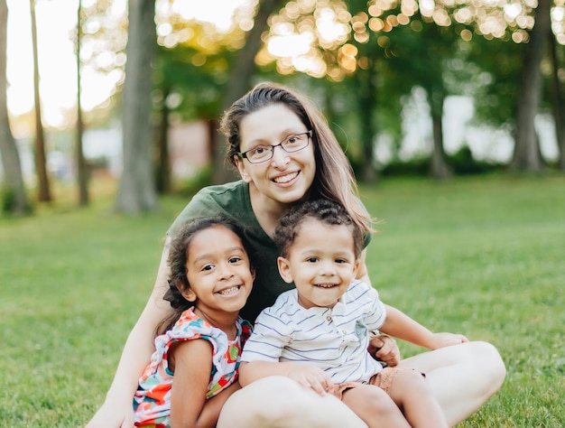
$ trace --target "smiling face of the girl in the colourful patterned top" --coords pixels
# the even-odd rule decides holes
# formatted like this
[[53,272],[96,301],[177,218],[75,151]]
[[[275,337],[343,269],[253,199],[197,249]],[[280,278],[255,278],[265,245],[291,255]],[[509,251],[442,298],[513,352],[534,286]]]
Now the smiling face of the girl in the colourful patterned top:
[[213,226],[190,240],[187,253],[189,289],[182,293],[202,312],[238,312],[251,293],[255,274],[237,235]]

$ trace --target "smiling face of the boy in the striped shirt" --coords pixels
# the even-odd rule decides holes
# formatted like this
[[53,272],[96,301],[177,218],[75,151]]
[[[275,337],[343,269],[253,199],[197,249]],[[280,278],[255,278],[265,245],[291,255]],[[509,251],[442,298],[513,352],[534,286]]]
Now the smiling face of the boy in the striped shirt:
[[298,302],[308,309],[332,308],[355,279],[359,261],[347,226],[307,219],[289,251],[279,257],[282,279],[296,285]]

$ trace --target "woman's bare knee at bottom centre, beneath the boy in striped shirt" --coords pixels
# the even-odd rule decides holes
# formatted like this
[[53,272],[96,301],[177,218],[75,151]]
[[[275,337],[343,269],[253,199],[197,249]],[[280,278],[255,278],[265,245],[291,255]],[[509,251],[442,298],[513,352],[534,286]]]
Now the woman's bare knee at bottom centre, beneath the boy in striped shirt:
[[321,397],[290,377],[264,377],[231,395],[217,428],[366,428],[333,395]]

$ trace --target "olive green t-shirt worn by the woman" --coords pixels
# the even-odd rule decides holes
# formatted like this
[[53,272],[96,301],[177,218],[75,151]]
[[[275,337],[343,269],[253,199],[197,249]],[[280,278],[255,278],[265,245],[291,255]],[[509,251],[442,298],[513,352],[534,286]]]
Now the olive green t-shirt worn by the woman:
[[[241,317],[255,322],[259,312],[271,306],[279,294],[294,288],[294,284],[282,281],[276,259],[279,251],[273,239],[261,228],[251,208],[249,186],[243,181],[234,181],[201,189],[174,220],[167,234],[174,236],[181,225],[192,219],[203,219],[222,214],[245,230],[251,255],[255,261],[255,282]],[[370,236],[366,236],[366,245]]]

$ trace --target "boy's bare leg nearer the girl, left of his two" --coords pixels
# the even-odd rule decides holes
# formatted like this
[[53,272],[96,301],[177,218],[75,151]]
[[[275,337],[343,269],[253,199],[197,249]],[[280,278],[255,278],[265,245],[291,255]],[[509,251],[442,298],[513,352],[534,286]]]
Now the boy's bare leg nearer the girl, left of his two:
[[377,386],[359,385],[347,389],[341,399],[369,428],[410,428],[391,397]]

